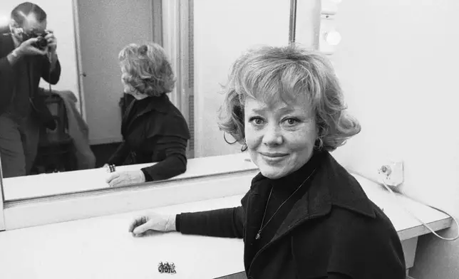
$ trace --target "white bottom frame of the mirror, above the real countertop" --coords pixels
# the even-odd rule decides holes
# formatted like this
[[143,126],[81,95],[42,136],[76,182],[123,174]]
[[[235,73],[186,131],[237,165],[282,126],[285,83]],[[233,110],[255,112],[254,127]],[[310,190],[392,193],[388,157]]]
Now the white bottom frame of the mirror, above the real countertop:
[[27,201],[6,201],[6,230],[41,226],[192,201],[245,194],[257,170],[215,177],[105,189]]

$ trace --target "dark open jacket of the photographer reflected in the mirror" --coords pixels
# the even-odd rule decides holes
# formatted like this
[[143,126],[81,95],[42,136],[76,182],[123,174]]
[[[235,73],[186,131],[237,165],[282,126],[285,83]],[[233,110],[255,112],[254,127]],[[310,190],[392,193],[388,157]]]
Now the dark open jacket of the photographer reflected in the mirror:
[[[0,115],[11,104],[14,98],[14,87],[16,85],[16,71],[14,66],[9,63],[8,56],[14,50],[14,41],[10,33],[0,34]],[[43,78],[46,82],[56,85],[61,77],[61,64],[59,61],[51,74],[50,63],[46,56],[31,56],[31,67],[29,72],[30,85],[31,85],[31,105],[33,107],[34,116],[41,121],[43,125],[50,129],[56,126],[51,112],[46,106],[46,95],[41,95],[38,92],[38,85],[40,79]]]

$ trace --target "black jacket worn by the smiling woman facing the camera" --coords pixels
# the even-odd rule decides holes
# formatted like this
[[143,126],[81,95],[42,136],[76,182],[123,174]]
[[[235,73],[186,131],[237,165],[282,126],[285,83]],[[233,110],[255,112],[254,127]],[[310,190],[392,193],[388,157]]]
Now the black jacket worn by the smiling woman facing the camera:
[[403,248],[391,221],[328,152],[319,165],[309,190],[259,251],[254,241],[269,194],[261,174],[242,206],[179,214],[177,230],[243,238],[248,278],[404,279]]

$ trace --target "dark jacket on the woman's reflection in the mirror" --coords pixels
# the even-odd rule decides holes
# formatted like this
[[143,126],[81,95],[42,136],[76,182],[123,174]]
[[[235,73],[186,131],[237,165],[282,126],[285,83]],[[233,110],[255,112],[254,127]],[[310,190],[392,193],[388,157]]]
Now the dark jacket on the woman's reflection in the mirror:
[[123,142],[108,164],[144,164],[158,162],[142,169],[146,181],[169,179],[187,169],[187,122],[166,94],[135,100],[124,94],[121,134]]

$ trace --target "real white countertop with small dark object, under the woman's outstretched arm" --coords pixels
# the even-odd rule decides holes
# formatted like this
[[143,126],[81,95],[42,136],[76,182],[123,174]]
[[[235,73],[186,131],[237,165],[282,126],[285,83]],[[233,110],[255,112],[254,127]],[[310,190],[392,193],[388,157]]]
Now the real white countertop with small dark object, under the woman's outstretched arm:
[[[356,176],[369,198],[384,209],[401,240],[428,233],[373,182]],[[239,206],[242,195],[152,209],[164,214]],[[406,197],[398,198],[435,229],[448,228],[449,216]],[[217,278],[244,270],[240,239],[128,233],[144,211],[0,232],[0,277],[9,278]],[[177,274],[158,273],[173,262]]]

